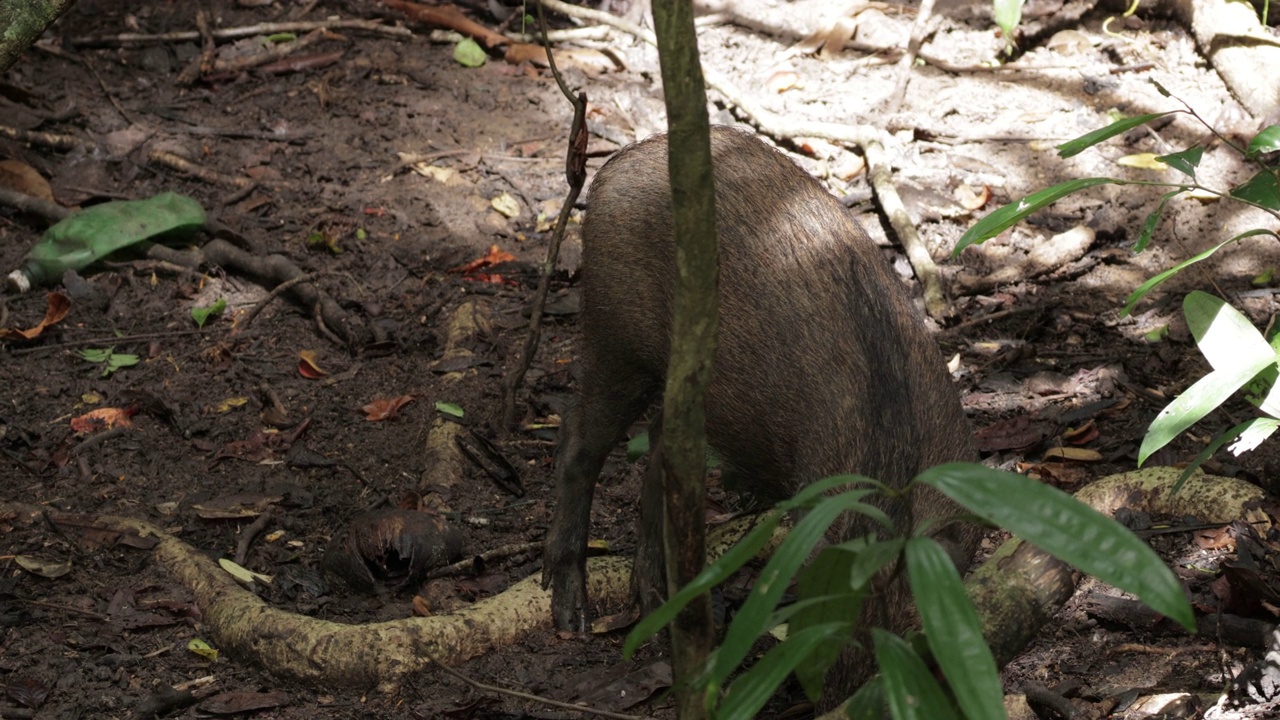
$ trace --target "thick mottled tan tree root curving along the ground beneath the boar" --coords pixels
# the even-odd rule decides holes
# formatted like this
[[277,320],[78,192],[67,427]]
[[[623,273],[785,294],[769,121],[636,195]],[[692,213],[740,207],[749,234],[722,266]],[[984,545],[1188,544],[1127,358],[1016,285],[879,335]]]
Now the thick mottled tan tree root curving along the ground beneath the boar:
[[[1198,515],[1211,521],[1243,519],[1270,524],[1260,507],[1265,493],[1242,480],[1197,473],[1176,496],[1169,495],[1180,470],[1158,468],[1105,478],[1076,497],[1102,512],[1120,506],[1167,515]],[[55,524],[74,519],[47,509],[0,501],[0,515]],[[708,555],[718,556],[745,534],[755,518],[717,528]],[[498,596],[433,618],[406,618],[369,625],[344,625],[270,607],[239,587],[214,560],[145,520],[93,518],[99,530],[156,541],[156,559],[191,589],[204,612],[205,630],[219,650],[262,666],[273,675],[315,687],[344,685],[394,691],[411,673],[429,669],[428,657],[456,665],[509,646],[526,633],[550,626],[550,593],[538,575],[520,580]],[[78,523],[83,525],[83,519]],[[774,537],[777,542],[782,532]],[[631,561],[593,557],[588,561],[594,602],[621,606],[630,598]],[[1010,541],[965,580],[983,618],[997,661],[1011,660],[1070,597],[1075,574],[1064,564],[1020,541]],[[828,715],[827,717],[836,717]]]

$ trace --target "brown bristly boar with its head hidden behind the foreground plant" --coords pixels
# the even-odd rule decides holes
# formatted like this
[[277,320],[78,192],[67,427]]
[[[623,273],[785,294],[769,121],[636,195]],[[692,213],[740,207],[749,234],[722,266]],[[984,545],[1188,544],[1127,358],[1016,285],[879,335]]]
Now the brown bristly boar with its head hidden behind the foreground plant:
[[[721,329],[707,434],[726,478],[772,501],[840,473],[902,486],[932,465],[973,460],[938,348],[858,222],[753,135],[712,128],[712,155]],[[625,430],[659,397],[667,369],[676,269],[664,136],[622,150],[600,169],[582,238],[582,382],[561,429],[559,495],[543,575],[557,625],[577,630],[586,623],[596,477]],[[650,439],[657,447],[658,438]],[[646,609],[666,594],[658,483],[655,473],[645,479],[632,577]],[[884,509],[915,523],[956,514],[936,493],[914,493],[911,507],[899,501]],[[852,515],[837,525],[833,541],[870,529]],[[950,524],[936,536],[963,569],[977,529]],[[873,598],[865,616],[891,629],[908,625],[902,584],[891,583],[883,602]],[[865,657],[846,653],[831,701],[868,670]]]

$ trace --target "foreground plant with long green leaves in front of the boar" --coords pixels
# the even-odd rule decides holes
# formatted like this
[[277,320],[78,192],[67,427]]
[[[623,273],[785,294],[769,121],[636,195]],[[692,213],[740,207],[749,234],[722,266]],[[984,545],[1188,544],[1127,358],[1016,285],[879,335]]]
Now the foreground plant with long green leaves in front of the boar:
[[[785,514],[803,511],[803,518],[760,571],[724,643],[696,680],[705,688],[714,716],[754,717],[791,673],[810,697],[817,697],[827,670],[854,639],[851,619],[867,600],[872,579],[902,559],[924,625],[928,653],[948,680],[960,711],[975,720],[1005,717],[996,662],[983,641],[978,614],[946,551],[927,537],[927,527],[914,537],[895,537],[888,516],[868,502],[873,493],[910,492],[913,486],[942,492],[979,518],[1007,528],[1106,583],[1133,592],[1183,626],[1194,628],[1190,605],[1172,571],[1115,520],[1021,475],[956,462],[922,473],[904,491],[859,475],[827,478],[804,488],[765,516],[689,587],[636,625],[627,638],[626,652],[634,652],[690,600],[755,557]],[[823,548],[805,565],[831,524],[845,512],[867,515],[884,527],[890,539],[854,538]],[[1084,539],[1088,542],[1082,542]],[[778,607],[783,591],[794,579],[797,579],[800,600]],[[788,624],[786,639],[726,687],[755,641],[783,623]],[[872,632],[872,638],[881,676],[859,691],[854,702],[863,714],[850,716],[879,717],[887,705],[895,719],[957,717],[947,694],[910,643],[879,629]]]

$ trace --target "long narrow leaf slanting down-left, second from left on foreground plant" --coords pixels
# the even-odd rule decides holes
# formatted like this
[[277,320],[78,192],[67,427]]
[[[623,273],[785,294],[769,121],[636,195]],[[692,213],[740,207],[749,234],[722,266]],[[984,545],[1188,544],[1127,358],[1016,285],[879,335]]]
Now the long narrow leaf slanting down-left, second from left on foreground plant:
[[710,682],[713,687],[724,683],[724,679],[742,664],[755,639],[769,629],[773,609],[777,607],[782,593],[791,584],[791,579],[800,571],[814,547],[822,541],[827,528],[845,512],[878,512],[883,515],[881,510],[863,502],[863,498],[870,492],[869,489],[858,489],[824,497],[787,533],[787,539],[782,541],[764,569],[760,570],[751,593],[730,624],[724,642],[717,651],[712,665]]

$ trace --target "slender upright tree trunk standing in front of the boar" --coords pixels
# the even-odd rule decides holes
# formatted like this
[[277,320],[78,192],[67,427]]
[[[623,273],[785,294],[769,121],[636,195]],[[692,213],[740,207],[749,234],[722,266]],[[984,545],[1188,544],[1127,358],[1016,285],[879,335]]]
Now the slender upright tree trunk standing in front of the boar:
[[[668,172],[676,227],[676,295],[671,360],[663,393],[662,438],[655,460],[666,500],[663,537],[671,592],[689,584],[707,560],[707,413],[719,327],[716,193],[712,184],[707,90],[698,59],[690,0],[653,4],[658,58],[667,101]],[[710,598],[691,602],[671,628],[676,708],[681,720],[705,716],[703,693],[689,685],[713,643]]]

